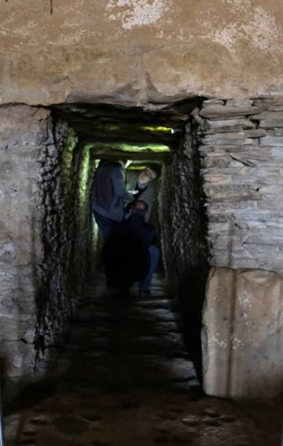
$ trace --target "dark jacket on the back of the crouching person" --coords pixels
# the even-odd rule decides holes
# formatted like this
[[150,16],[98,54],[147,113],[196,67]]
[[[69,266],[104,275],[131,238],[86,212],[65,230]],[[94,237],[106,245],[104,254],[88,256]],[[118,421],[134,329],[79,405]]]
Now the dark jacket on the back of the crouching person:
[[138,215],[116,223],[104,248],[107,284],[122,288],[144,279],[150,269],[148,248],[155,239],[154,225]]

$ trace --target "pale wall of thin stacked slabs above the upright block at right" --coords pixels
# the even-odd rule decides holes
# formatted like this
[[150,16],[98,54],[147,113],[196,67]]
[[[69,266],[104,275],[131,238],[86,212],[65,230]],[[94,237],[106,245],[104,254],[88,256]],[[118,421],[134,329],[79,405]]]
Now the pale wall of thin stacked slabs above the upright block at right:
[[204,101],[210,263],[283,272],[283,100]]

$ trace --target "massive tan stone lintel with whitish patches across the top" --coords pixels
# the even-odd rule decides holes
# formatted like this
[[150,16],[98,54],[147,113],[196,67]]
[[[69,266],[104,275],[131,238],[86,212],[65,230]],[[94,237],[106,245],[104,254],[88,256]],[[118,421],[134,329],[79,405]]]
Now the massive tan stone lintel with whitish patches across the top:
[[1,102],[282,95],[282,14],[280,0],[3,1]]

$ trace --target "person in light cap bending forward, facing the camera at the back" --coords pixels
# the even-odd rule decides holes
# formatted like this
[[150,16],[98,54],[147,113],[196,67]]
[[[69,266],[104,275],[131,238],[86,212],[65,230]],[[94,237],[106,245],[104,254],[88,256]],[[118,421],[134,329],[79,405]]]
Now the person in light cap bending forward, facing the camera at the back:
[[[150,220],[150,213],[154,201],[157,199],[158,184],[157,184],[157,167],[148,164],[142,171],[128,169],[126,171],[126,187],[129,190],[135,190],[135,200],[142,200],[148,205],[146,212],[146,221]],[[130,205],[126,207],[129,211]]]

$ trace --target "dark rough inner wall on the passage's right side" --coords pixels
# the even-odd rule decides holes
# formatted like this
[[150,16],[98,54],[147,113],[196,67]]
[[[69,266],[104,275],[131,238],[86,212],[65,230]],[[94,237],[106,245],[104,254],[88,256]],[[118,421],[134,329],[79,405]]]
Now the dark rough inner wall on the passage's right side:
[[200,328],[207,275],[204,218],[196,125],[185,134],[163,168],[159,215],[165,275],[180,310],[185,344],[200,376]]

